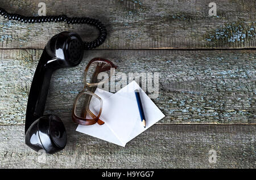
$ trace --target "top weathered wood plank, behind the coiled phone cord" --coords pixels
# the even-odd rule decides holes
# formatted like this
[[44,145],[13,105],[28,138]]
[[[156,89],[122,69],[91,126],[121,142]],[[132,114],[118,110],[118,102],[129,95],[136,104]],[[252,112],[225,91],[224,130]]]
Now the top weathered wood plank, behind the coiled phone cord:
[[[38,15],[36,1],[8,0],[1,7],[27,16]],[[255,48],[255,0],[214,1],[217,16],[209,16],[208,1],[53,1],[47,15],[90,16],[109,32],[100,49]],[[92,40],[97,31],[87,25],[24,24],[0,18],[1,48],[43,49],[56,33],[73,31]]]

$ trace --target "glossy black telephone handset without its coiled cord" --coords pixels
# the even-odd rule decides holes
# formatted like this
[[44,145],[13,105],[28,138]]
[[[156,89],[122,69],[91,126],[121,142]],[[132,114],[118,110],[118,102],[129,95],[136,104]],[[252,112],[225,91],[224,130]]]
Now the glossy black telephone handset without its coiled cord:
[[65,127],[56,115],[43,115],[52,72],[65,67],[75,67],[82,60],[84,50],[81,38],[71,32],[53,36],[43,50],[32,80],[27,101],[25,142],[39,151],[60,151],[65,147]]

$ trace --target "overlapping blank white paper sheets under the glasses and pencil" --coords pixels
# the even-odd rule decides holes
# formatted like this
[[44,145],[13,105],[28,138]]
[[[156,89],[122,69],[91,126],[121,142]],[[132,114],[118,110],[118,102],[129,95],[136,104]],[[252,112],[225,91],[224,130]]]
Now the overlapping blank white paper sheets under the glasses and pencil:
[[141,89],[142,105],[146,117],[146,128],[144,128],[139,115],[135,89],[141,89],[135,81],[114,94],[97,88],[95,93],[103,101],[100,119],[105,124],[101,126],[97,123],[90,126],[79,125],[76,131],[125,147],[127,142],[164,117],[160,109]]

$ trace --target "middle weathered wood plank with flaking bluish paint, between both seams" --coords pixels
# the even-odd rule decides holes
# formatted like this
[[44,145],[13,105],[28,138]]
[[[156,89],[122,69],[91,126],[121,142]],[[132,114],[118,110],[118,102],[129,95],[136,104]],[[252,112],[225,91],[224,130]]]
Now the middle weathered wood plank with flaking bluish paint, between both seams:
[[[28,91],[42,50],[0,50],[0,123],[24,124]],[[255,123],[255,50],[90,50],[75,68],[53,74],[46,113],[71,121],[90,59],[113,61],[117,72],[159,73],[166,115],[159,123]],[[116,72],[116,73],[117,73]],[[127,78],[128,79],[128,78]],[[148,89],[147,89],[148,90]]]

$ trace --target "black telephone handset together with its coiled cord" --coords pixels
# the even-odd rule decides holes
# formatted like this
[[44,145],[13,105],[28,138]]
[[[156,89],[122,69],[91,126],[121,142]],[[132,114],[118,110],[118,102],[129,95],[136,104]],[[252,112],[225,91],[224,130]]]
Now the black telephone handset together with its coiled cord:
[[25,142],[35,151],[43,149],[50,154],[58,152],[67,143],[65,126],[56,115],[43,115],[52,72],[59,68],[79,65],[84,49],[96,48],[105,41],[106,28],[98,20],[90,18],[68,18],[65,15],[26,17],[10,14],[3,8],[0,8],[0,15],[24,23],[85,23],[96,26],[100,31],[98,38],[92,42],[83,42],[79,35],[72,32],[61,32],[53,36],[44,48],[36,67],[27,102]]

